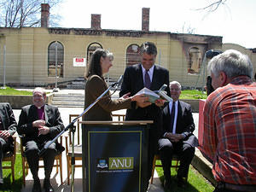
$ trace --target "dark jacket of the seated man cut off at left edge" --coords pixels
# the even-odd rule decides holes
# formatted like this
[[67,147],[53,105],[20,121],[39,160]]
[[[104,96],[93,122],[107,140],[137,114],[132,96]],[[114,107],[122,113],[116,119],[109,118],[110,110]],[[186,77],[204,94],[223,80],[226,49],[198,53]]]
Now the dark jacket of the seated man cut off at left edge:
[[[9,131],[10,135],[14,135],[17,129],[17,123],[15,120],[15,114],[8,102],[0,103],[0,117],[3,123],[3,130]],[[13,137],[9,137],[9,148],[8,150],[13,151]]]

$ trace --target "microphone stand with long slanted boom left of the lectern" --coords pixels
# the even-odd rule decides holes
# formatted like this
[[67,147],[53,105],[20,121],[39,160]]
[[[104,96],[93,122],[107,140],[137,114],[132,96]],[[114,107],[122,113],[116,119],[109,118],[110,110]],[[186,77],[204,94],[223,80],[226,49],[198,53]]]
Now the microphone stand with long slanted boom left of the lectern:
[[[67,130],[69,130],[69,129],[72,131],[73,139],[72,139],[72,157],[71,157],[71,169],[72,169],[72,171],[71,171],[71,192],[74,192],[74,166],[75,166],[75,158],[74,158],[74,133],[75,133],[75,126],[74,126],[74,123],[75,123],[80,117],[82,117],[85,113],[87,113],[87,112],[90,110],[90,108],[92,108],[100,99],[102,99],[102,96],[105,96],[106,93],[108,93],[108,91],[109,91],[111,88],[115,87],[115,89],[117,89],[117,87],[119,86],[119,84],[120,84],[120,82],[121,82],[122,79],[123,79],[123,76],[121,76],[117,82],[111,84],[111,85],[108,87],[108,89],[105,90],[105,91],[102,93],[101,96],[98,96],[98,97],[96,98],[96,101],[95,101],[95,102],[91,103],[90,106],[88,106],[88,108],[85,108],[83,113],[79,114],[78,117],[76,117],[75,119],[73,119],[73,121],[72,121],[69,125],[67,125],[67,126],[64,128],[63,131],[61,131],[53,140],[51,140],[48,144],[46,144],[46,145],[44,146],[44,148],[42,148],[42,149],[39,151],[39,153],[38,153],[39,156],[41,156],[42,154],[45,153],[46,149],[49,148],[49,145],[51,145],[52,143],[55,143],[55,141],[58,139],[58,137],[60,137],[65,131],[67,131]],[[117,85],[117,86],[116,86],[116,85]],[[67,176],[67,177],[69,177],[69,176]]]

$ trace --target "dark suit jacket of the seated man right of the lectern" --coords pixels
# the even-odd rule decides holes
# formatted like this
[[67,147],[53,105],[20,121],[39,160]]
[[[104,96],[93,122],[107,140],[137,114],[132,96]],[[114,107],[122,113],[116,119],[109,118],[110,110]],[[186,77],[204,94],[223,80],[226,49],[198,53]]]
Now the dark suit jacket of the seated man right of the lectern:
[[[162,137],[165,132],[172,132],[171,127],[171,114],[169,105],[163,109],[163,129],[162,129]],[[198,146],[198,140],[193,135],[193,131],[195,131],[195,124],[192,115],[191,106],[182,101],[178,101],[177,104],[177,124],[176,124],[176,133],[184,134],[186,137],[183,139],[183,143],[189,143],[192,147]]]

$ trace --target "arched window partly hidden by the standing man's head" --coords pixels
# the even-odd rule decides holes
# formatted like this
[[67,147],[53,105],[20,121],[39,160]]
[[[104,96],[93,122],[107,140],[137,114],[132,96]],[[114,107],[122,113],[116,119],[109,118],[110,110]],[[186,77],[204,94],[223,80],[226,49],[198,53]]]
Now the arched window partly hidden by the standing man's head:
[[139,46],[137,44],[131,44],[126,49],[126,66],[131,66],[140,63],[141,57],[139,53]]

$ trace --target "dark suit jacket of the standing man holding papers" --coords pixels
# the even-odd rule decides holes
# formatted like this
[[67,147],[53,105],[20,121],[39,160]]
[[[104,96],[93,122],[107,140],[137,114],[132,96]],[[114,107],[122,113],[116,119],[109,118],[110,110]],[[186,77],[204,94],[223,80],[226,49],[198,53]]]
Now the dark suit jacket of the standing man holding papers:
[[[169,85],[169,72],[163,67],[154,65],[154,73],[150,90],[159,90],[163,84]],[[139,90],[144,88],[143,83],[143,69],[141,64],[133,65],[125,69],[124,81],[119,92],[119,96],[123,96],[131,92],[131,96],[137,94]],[[170,96],[170,90],[166,89],[167,95]],[[127,120],[143,120],[157,118],[160,108],[152,104],[147,108],[136,108],[136,102],[133,104],[132,109],[127,109]]]

